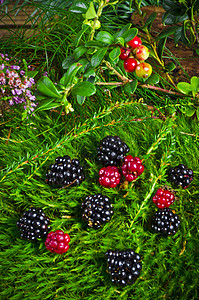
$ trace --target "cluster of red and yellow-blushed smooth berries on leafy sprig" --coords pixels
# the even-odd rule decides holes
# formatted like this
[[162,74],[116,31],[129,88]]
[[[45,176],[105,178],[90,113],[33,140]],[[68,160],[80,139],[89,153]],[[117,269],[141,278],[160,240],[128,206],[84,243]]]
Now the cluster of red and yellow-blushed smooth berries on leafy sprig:
[[144,62],[149,57],[149,49],[142,45],[139,37],[135,36],[127,43],[127,47],[120,49],[119,58],[124,60],[124,69],[126,72],[134,72],[140,78],[151,76],[152,67]]

